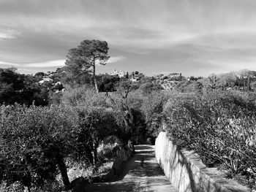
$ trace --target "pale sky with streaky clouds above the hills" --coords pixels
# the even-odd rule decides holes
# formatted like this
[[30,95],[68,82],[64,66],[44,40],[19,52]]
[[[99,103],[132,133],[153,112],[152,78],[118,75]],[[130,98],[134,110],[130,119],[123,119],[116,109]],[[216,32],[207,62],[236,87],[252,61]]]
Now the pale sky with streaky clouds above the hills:
[[84,39],[146,75],[256,70],[255,0],[0,0],[0,68],[55,71]]

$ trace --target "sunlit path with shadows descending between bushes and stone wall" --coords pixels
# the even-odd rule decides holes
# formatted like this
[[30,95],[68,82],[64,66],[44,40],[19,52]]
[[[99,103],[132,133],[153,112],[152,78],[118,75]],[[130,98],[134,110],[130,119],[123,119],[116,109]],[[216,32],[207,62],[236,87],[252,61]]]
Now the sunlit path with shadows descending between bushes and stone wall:
[[[175,192],[170,185],[165,174],[160,169],[154,158],[154,146],[138,145],[135,146],[135,155],[124,164],[121,175],[110,183],[94,183],[85,185],[83,190],[88,191],[170,191]],[[141,159],[144,158],[143,166]],[[78,191],[75,191],[78,192]]]

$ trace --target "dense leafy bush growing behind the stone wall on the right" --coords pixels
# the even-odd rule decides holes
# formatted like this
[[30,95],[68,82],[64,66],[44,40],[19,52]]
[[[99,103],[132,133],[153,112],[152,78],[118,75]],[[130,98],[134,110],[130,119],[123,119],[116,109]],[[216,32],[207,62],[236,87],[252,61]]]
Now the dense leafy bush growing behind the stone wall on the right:
[[195,150],[208,166],[256,174],[256,106],[234,92],[184,95],[165,105],[167,133]]

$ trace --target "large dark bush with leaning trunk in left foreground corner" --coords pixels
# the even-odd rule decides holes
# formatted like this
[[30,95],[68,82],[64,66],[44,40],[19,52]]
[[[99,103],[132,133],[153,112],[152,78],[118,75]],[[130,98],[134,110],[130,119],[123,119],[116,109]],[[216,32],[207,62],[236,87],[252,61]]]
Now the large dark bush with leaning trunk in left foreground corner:
[[1,180],[7,185],[43,185],[61,172],[69,185],[64,158],[75,141],[75,114],[63,107],[0,107]]

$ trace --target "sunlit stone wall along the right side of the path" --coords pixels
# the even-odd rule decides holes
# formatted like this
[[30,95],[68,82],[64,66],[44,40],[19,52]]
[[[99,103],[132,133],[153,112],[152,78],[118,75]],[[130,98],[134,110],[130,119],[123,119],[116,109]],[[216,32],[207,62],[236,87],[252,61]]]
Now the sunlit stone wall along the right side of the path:
[[208,168],[193,151],[179,150],[165,132],[155,143],[155,155],[165,176],[178,192],[249,192],[216,168]]

